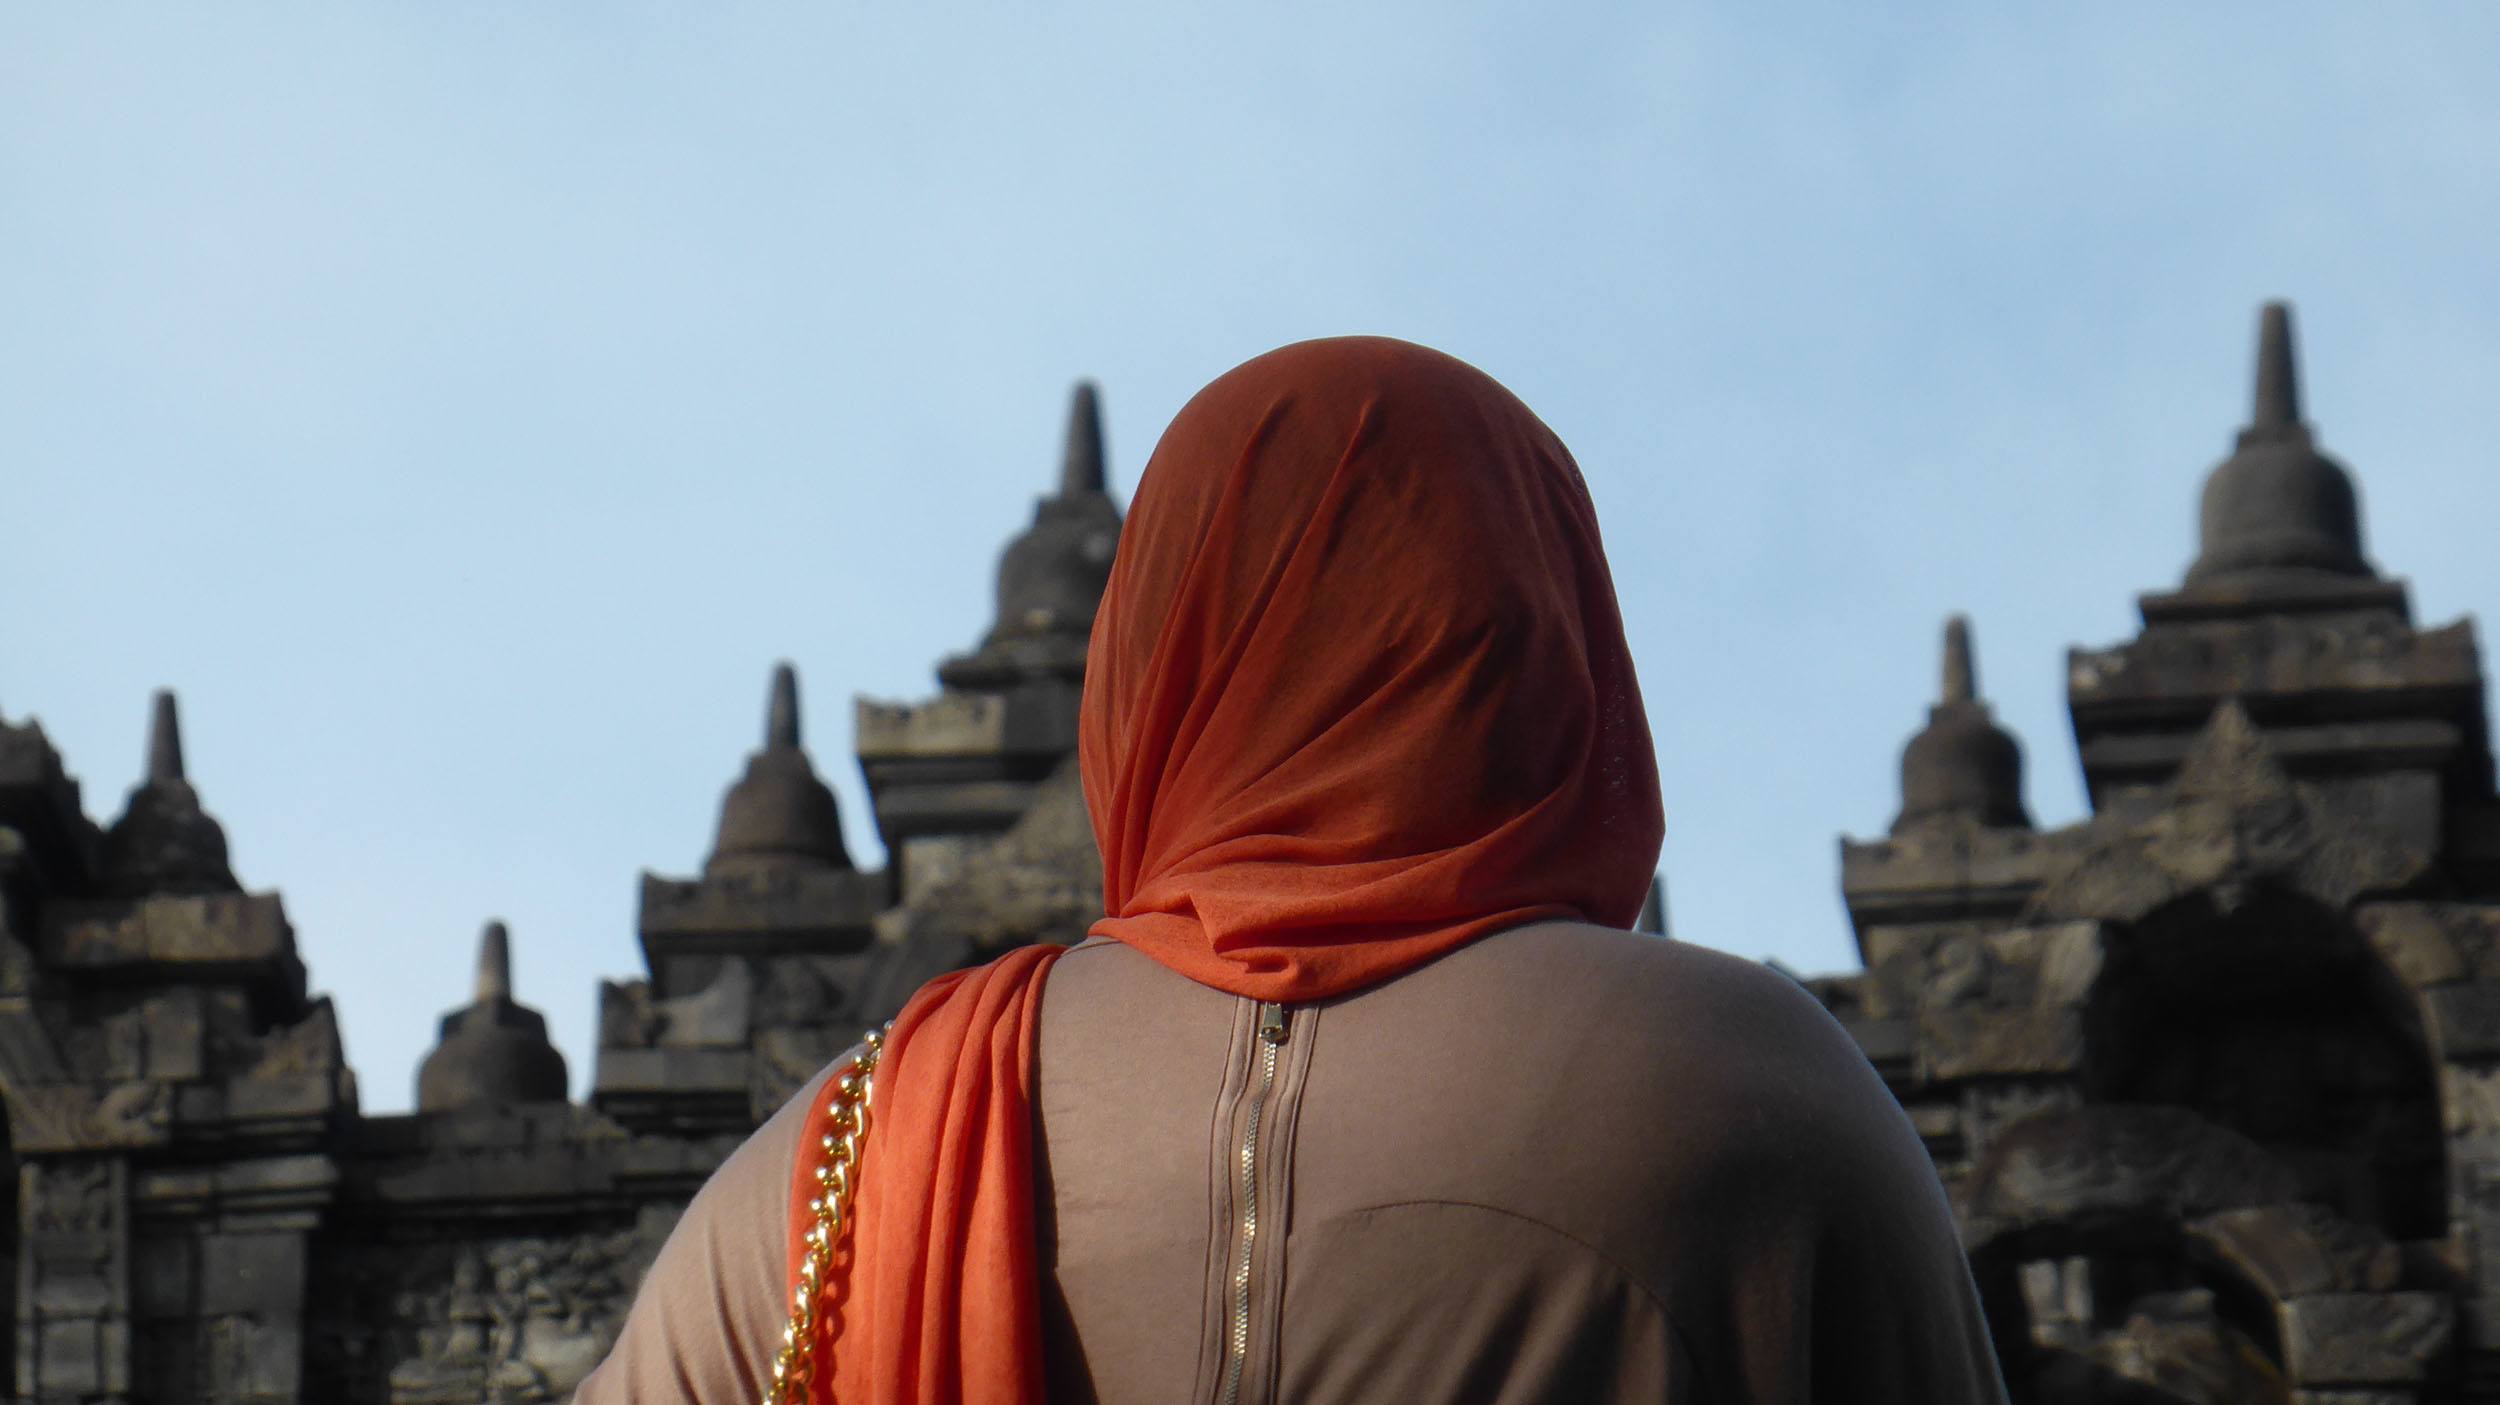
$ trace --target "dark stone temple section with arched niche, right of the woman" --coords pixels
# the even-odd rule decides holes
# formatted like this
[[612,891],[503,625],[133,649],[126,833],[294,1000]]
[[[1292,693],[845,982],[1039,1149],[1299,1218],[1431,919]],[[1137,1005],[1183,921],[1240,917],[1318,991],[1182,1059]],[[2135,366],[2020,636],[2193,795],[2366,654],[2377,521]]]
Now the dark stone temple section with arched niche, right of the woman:
[[2420,628],[2292,320],[2175,590],[2068,655],[2035,830],[1968,625],[1812,980],[1928,1140],[2015,1398],[2500,1400],[2500,872],[2470,622]]

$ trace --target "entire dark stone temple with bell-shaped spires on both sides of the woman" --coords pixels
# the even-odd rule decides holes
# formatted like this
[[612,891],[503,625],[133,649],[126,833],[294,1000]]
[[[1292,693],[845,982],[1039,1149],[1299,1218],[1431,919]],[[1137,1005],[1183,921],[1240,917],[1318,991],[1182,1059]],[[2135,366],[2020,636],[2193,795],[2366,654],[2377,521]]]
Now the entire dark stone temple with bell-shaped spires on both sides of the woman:
[[[0,718],[0,1380],[565,1400],[685,1200],[800,1080],[930,975],[1100,910],[1072,750],[1118,535],[1080,388],[990,632],[932,698],[858,702],[882,872],[850,860],[772,672],[702,870],[640,880],[648,975],[600,990],[588,1105],[488,922],[418,1110],[362,1115],[280,898],[235,882],[185,780],[172,695],[110,825]],[[2365,555],[2280,305],[2200,555],[2142,620],[2068,655],[2092,815],[2062,830],[2032,825],[1970,628],[1945,625],[1900,815],[1840,845],[1865,970],[1805,985],[1925,1138],[2018,1400],[2500,1402],[2480,655]]]

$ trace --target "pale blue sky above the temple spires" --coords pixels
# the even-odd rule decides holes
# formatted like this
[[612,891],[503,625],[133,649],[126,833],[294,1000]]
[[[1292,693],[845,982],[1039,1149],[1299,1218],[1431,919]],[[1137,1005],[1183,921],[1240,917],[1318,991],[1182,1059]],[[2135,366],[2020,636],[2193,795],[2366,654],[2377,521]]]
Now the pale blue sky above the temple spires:
[[0,708],[148,692],[368,1110],[485,918],[588,1085],[635,872],[800,668],[935,690],[1102,382],[1115,490],[1278,342],[1570,442],[1680,938],[1848,968],[1938,628],[2042,822],[2065,648],[2195,550],[2292,298],[2420,618],[2500,605],[2500,5],[8,5]]

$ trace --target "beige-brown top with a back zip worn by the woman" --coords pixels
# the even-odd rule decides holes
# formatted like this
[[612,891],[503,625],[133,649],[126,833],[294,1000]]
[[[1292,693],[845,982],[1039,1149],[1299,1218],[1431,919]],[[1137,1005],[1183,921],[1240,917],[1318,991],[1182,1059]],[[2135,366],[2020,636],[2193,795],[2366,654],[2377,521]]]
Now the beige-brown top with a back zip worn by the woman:
[[[1755,962],[1545,922],[1288,1010],[1085,942],[1035,1078],[1052,1400],[2005,1400],[1908,1118]],[[795,1140],[695,1198],[580,1405],[762,1392]]]

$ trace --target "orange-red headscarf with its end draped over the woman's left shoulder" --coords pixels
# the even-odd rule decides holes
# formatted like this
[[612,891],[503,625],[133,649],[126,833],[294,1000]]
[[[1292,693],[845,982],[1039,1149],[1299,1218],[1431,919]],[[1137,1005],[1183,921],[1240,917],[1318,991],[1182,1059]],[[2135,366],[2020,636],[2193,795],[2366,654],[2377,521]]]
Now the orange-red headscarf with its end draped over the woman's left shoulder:
[[[1502,928],[1640,910],[1658,765],[1588,488],[1460,360],[1340,338],[1198,392],[1138,482],[1085,668],[1092,930],[1180,975],[1325,1000]],[[940,978],[895,1020],[832,1310],[842,1405],[1042,1398],[1055,955]]]

